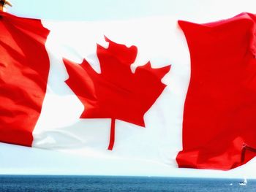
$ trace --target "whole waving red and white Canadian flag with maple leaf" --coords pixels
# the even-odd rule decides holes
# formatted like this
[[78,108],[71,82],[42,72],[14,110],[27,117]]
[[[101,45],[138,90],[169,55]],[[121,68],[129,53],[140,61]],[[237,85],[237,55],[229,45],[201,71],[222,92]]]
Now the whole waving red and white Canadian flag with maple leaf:
[[255,156],[255,15],[206,24],[0,15],[1,142],[197,169]]

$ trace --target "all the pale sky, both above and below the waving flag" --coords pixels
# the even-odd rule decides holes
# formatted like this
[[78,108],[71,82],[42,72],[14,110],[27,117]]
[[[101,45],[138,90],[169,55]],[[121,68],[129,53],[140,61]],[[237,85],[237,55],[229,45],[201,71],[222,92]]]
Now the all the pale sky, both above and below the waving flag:
[[[75,3],[72,3],[75,2]],[[170,15],[207,22],[228,18],[240,12],[255,12],[256,1],[220,0],[12,0],[8,12],[29,18],[50,20],[123,20]],[[80,155],[0,144],[0,174],[138,174],[178,177],[256,177],[256,161],[230,172],[171,169],[147,163],[97,160]],[[132,164],[132,166],[130,166]],[[133,166],[137,164],[137,166]],[[140,166],[138,166],[140,165]],[[111,169],[116,167],[116,169]]]

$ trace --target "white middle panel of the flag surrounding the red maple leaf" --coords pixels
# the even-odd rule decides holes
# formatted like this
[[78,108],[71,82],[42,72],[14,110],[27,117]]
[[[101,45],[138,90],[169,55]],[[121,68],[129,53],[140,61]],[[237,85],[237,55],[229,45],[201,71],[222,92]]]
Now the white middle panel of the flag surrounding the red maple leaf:
[[[181,126],[190,75],[187,42],[173,18],[147,18],[117,22],[49,22],[46,47],[50,57],[48,89],[33,132],[33,147],[69,150],[88,157],[158,161],[176,166],[182,150]],[[83,104],[64,82],[68,74],[62,58],[81,63],[83,58],[100,73],[97,43],[113,42],[138,47],[131,70],[148,61],[154,68],[171,64],[162,79],[167,87],[144,115],[146,128],[116,120],[113,150],[108,149],[110,119],[80,119]],[[78,82],[79,83],[79,82]],[[125,109],[124,109],[125,110]]]

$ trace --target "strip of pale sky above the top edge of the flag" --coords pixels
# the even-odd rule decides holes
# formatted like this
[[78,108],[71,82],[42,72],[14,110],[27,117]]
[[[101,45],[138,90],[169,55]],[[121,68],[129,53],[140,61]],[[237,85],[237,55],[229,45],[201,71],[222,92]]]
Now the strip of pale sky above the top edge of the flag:
[[[75,2],[75,3],[72,3]],[[12,0],[9,12],[57,20],[121,20],[156,15],[209,21],[255,12],[254,0]]]

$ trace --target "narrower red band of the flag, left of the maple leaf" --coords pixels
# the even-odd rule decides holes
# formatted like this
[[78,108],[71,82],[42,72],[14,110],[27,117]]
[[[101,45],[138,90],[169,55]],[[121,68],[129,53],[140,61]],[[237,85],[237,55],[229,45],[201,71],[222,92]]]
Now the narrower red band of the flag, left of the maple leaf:
[[0,141],[31,146],[49,72],[40,20],[0,12]]

